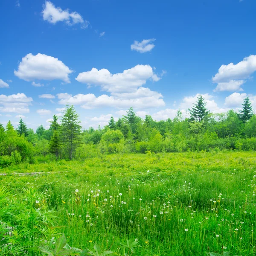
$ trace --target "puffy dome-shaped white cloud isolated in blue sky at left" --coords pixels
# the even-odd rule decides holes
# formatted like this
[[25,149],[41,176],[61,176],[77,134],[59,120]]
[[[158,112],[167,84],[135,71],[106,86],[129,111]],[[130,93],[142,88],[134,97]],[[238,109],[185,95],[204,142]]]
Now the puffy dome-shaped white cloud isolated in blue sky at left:
[[32,53],[27,54],[22,58],[18,70],[14,70],[15,76],[25,81],[60,79],[66,83],[70,83],[68,76],[72,72],[58,58],[41,53],[37,55],[33,55]]

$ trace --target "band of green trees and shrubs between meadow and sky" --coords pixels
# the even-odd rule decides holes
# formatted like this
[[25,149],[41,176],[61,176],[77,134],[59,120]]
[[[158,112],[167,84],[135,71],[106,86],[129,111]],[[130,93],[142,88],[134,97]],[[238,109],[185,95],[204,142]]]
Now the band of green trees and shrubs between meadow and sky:
[[34,132],[20,118],[15,130],[11,122],[0,124],[0,166],[20,162],[33,163],[35,156],[58,159],[85,160],[106,154],[159,152],[256,150],[256,116],[248,98],[239,113],[212,114],[202,96],[189,109],[190,118],[183,119],[177,111],[173,120],[155,121],[136,115],[133,108],[126,116],[114,120],[113,116],[103,129],[81,130],[79,115],[67,105],[58,123],[53,116],[49,129],[39,125]]

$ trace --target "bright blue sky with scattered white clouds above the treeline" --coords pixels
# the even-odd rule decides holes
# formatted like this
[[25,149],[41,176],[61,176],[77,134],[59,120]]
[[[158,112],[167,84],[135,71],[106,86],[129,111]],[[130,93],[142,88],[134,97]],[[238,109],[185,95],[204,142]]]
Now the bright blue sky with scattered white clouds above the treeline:
[[198,93],[256,109],[254,0],[2,0],[0,122],[36,128],[73,104],[84,128],[133,106],[161,120]]

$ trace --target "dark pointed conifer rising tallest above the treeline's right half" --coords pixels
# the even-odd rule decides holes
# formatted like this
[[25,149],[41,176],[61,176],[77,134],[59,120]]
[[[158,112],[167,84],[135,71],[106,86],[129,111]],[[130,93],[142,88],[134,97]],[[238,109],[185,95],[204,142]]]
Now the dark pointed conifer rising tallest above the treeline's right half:
[[189,109],[191,121],[198,120],[201,122],[205,116],[208,116],[210,111],[207,110],[205,99],[202,95],[198,96],[196,103],[193,104],[192,109]]

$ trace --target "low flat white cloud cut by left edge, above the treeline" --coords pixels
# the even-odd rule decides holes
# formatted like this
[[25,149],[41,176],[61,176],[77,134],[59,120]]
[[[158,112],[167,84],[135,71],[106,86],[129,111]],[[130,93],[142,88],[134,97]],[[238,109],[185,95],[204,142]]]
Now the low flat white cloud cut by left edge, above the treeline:
[[33,99],[24,93],[12,94],[9,96],[0,95],[0,111],[13,113],[29,113],[28,106]]

